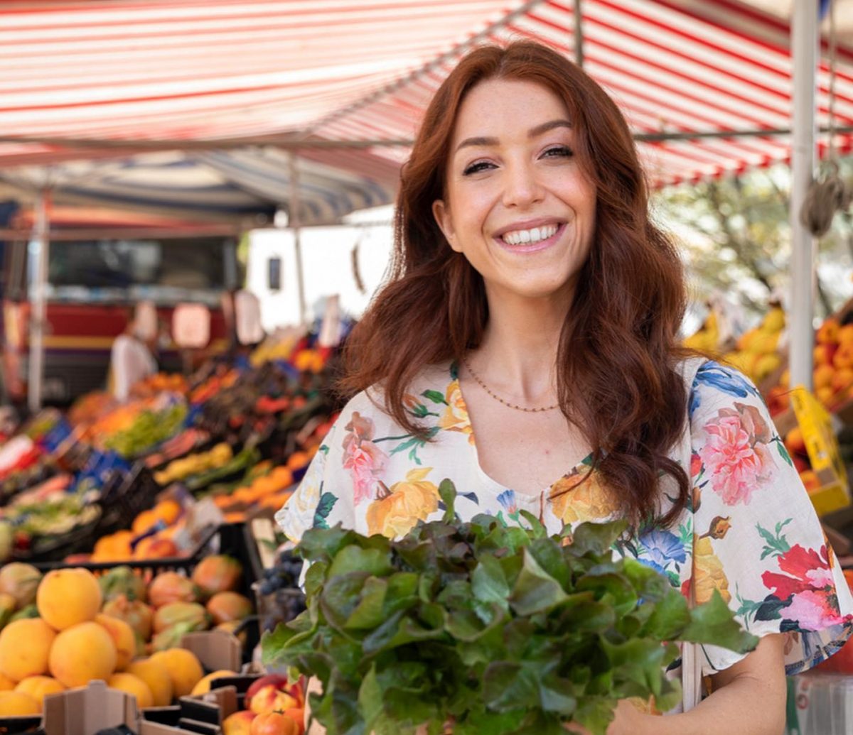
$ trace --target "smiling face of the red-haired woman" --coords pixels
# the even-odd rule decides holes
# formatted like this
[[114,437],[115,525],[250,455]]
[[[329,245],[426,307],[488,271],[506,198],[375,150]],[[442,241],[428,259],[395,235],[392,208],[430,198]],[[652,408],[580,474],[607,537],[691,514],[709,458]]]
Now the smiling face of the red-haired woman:
[[490,299],[571,303],[595,234],[595,188],[574,138],[566,105],[539,84],[490,79],[462,101],[432,213]]

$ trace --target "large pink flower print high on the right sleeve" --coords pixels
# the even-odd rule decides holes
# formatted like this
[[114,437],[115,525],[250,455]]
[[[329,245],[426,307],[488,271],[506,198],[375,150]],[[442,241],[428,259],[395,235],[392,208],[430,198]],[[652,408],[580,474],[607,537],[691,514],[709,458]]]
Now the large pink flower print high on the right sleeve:
[[735,413],[731,409],[723,409],[717,419],[705,425],[707,441],[699,449],[699,457],[705,464],[711,489],[727,506],[747,505],[752,493],[769,483],[775,471],[767,444],[757,441],[747,427],[756,428],[751,413]]

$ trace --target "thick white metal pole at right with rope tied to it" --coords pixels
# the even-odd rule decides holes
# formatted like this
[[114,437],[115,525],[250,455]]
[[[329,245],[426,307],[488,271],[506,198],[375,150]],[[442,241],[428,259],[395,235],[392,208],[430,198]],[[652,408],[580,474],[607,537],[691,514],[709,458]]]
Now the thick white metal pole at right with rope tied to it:
[[809,185],[815,175],[815,87],[818,43],[818,0],[793,3],[791,168],[791,385],[812,389],[814,347],[815,239],[800,222]]

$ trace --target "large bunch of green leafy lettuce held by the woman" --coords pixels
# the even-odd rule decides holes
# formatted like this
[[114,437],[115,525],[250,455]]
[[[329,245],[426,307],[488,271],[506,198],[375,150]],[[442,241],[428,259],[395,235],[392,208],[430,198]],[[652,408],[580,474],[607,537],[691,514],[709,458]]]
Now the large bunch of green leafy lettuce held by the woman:
[[687,601],[651,567],[614,559],[622,521],[548,536],[478,515],[461,523],[439,487],[442,521],[402,539],[335,527],[300,544],[308,610],[264,636],[264,662],[322,681],[310,698],[329,735],[557,735],[575,721],[603,735],[624,697],[680,701],[664,669],[673,641],[748,651],[757,639],[718,593]]

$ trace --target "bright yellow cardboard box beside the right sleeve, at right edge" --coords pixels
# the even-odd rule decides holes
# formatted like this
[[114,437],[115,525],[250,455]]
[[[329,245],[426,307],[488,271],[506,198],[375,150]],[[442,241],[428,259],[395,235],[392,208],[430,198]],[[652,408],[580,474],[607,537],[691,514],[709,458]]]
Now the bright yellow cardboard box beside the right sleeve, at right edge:
[[821,481],[821,488],[809,493],[815,510],[822,516],[850,505],[847,471],[826,408],[803,385],[791,391],[791,406],[803,432],[811,468]]

